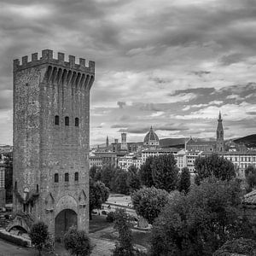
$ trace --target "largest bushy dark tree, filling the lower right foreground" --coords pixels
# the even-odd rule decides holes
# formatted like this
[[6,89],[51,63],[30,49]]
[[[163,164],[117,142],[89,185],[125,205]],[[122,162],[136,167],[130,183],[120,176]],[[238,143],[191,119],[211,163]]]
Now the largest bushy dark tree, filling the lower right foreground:
[[212,255],[225,241],[253,237],[240,203],[240,183],[216,177],[173,196],[154,222],[153,255]]

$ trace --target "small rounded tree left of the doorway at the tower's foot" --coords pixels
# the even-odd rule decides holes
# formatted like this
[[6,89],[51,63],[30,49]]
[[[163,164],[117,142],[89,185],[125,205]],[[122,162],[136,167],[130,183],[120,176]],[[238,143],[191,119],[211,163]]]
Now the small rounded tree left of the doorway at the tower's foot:
[[41,255],[44,245],[49,240],[48,226],[41,221],[38,223],[32,224],[32,228],[31,228],[31,231],[29,232],[29,236],[30,236],[32,245],[38,249],[38,253],[39,255]]

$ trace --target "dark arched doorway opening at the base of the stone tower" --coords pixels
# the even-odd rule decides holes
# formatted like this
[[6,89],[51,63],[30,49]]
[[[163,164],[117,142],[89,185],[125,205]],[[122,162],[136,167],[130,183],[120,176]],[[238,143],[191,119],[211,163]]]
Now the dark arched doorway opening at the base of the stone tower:
[[72,226],[78,226],[78,214],[71,209],[59,212],[55,217],[55,241],[62,241],[63,236]]

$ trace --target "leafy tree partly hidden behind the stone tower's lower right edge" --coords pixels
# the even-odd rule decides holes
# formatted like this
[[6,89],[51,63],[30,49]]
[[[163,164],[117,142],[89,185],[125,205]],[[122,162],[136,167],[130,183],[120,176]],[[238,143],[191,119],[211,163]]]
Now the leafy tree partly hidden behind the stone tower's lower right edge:
[[95,208],[101,208],[102,203],[108,201],[108,196],[109,189],[105,184],[100,181],[94,182],[92,178],[90,178],[90,219],[92,210]]

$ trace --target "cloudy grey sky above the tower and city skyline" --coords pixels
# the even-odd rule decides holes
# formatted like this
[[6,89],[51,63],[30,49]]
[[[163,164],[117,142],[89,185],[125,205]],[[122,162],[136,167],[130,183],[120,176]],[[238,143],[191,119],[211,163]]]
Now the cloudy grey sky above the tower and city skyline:
[[96,61],[90,143],[256,133],[255,0],[0,0],[0,144],[12,61],[53,49]]

